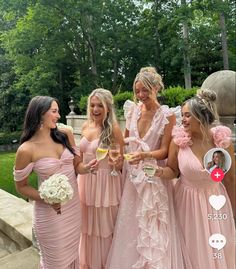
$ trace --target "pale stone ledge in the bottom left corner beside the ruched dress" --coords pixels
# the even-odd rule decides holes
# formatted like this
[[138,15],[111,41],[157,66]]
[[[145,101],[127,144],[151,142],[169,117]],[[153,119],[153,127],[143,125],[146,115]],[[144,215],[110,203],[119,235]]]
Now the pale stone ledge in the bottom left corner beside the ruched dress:
[[0,189],[0,268],[38,269],[32,245],[32,205]]

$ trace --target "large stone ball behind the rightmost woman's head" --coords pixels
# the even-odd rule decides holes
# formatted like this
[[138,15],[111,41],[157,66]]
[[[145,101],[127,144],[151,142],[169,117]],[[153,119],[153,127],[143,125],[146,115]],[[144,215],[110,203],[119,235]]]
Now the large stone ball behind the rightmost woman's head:
[[220,116],[236,114],[236,72],[222,70],[212,73],[202,83],[201,89],[211,89],[217,94],[217,110]]

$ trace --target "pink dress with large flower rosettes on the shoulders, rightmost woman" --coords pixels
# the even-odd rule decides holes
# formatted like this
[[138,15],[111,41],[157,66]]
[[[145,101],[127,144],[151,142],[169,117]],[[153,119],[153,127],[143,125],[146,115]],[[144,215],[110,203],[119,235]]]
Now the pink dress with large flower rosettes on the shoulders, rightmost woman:
[[[216,147],[229,146],[229,128],[218,126],[211,131]],[[193,154],[191,138],[184,129],[176,127],[173,135],[179,146],[180,169],[180,180],[175,185],[175,209],[186,269],[234,269],[235,226],[226,189],[221,182],[211,179],[202,161]],[[226,203],[220,210],[210,205],[211,195],[226,197]],[[217,216],[220,214],[227,218],[219,219]],[[223,249],[218,251],[209,245],[212,234],[225,236],[227,242]]]

